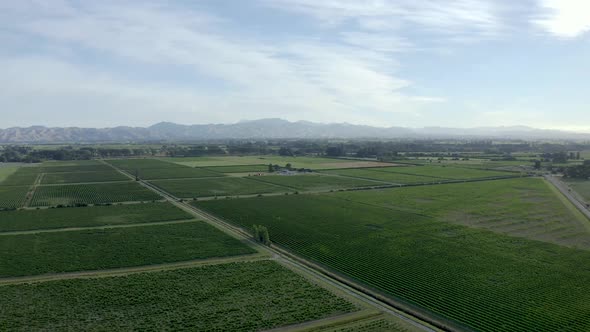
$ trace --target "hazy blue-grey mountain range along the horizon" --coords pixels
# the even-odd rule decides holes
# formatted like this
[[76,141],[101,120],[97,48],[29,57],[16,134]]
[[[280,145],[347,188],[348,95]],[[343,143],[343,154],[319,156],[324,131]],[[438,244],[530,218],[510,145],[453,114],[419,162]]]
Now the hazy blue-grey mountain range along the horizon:
[[161,122],[153,126],[114,128],[28,128],[0,129],[0,143],[94,143],[197,141],[215,139],[276,138],[502,138],[590,140],[590,134],[524,126],[480,128],[371,127],[347,123],[321,124],[282,119],[241,121],[235,124],[181,125]]

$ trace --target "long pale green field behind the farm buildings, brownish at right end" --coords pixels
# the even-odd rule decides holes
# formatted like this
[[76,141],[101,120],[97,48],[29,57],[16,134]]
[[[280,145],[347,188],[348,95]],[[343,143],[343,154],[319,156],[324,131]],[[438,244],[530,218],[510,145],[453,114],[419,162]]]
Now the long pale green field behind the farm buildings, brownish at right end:
[[[189,158],[162,158],[169,162],[190,167],[211,166],[243,166],[243,165],[279,165],[291,164],[293,168],[330,169],[347,167],[378,167],[392,166],[389,163],[375,161],[359,161],[320,157],[282,157],[282,156],[221,156],[221,157],[189,157]],[[267,166],[268,167],[268,166]]]

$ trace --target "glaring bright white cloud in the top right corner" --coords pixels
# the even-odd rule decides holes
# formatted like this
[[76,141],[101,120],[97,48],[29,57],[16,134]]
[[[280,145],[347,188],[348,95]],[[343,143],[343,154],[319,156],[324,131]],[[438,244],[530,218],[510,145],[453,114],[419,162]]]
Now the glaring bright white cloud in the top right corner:
[[539,0],[544,9],[533,23],[561,38],[575,38],[590,31],[590,2],[587,0]]

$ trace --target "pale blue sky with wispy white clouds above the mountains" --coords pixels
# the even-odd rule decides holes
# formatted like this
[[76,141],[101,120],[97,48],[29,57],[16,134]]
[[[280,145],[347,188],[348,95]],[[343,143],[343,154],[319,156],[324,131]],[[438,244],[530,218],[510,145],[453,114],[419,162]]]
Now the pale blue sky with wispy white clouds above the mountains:
[[0,128],[590,132],[587,0],[0,0]]

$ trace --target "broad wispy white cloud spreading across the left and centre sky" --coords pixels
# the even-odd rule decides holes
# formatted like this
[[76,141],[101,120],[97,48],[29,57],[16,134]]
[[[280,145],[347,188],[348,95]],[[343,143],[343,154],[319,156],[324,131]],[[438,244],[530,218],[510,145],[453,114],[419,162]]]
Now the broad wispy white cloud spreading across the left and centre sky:
[[[369,44],[381,44],[376,49],[360,42],[306,39],[267,43],[233,33],[222,18],[162,3],[63,2],[38,7],[22,2],[7,10],[0,27],[41,38],[64,52],[52,50],[26,62],[3,59],[0,68],[19,68],[25,79],[0,91],[6,109],[22,103],[19,95],[37,95],[45,105],[70,110],[83,109],[87,98],[93,109],[101,105],[115,112],[136,109],[160,116],[181,112],[193,122],[280,116],[379,124],[381,114],[413,112],[441,101],[404,93],[412,82],[397,77],[397,62],[383,53],[403,46],[394,38],[357,35]],[[80,50],[94,60],[77,58]],[[191,79],[159,84],[157,79],[128,78],[124,71],[105,67],[104,60],[113,59],[138,71],[154,65],[180,67],[191,79],[223,87],[202,91]],[[11,85],[7,76],[0,85]]]

